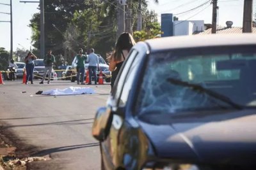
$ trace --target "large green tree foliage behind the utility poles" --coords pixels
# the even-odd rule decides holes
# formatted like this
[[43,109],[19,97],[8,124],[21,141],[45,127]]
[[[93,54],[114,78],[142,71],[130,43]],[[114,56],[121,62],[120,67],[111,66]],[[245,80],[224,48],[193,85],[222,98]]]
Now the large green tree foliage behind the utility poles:
[[[139,0],[132,1],[132,29],[136,30]],[[156,1],[156,0],[154,0]],[[157,1],[156,1],[157,2]],[[116,0],[45,0],[45,50],[52,49],[57,64],[70,64],[79,48],[84,51],[95,48],[95,53],[105,57],[115,46],[117,15]],[[159,34],[157,15],[147,10],[147,1],[142,0],[143,31],[145,39]],[[153,24],[152,23],[152,24]],[[31,19],[31,39],[35,53],[40,53],[40,15]],[[142,32],[141,32],[142,34]],[[153,35],[150,35],[153,34]]]

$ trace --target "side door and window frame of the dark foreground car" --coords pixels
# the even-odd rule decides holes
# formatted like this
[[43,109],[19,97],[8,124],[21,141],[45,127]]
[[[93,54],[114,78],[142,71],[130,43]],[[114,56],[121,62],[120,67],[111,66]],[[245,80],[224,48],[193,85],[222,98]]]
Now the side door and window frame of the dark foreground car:
[[[120,146],[118,138],[120,134],[127,131],[127,126],[124,126],[127,110],[126,104],[128,103],[129,94],[131,94],[132,86],[134,86],[134,80],[138,76],[138,69],[140,68],[140,60],[142,59],[144,52],[138,49],[133,49],[125,61],[124,66],[120,71],[122,74],[118,74],[116,83],[113,87],[111,97],[109,98],[109,107],[113,111],[113,120],[109,131],[108,138],[102,145],[104,152],[104,160],[108,163],[107,169],[113,169],[124,164],[124,147]],[[122,140],[123,141],[123,140]],[[125,142],[124,142],[125,143]],[[106,164],[105,164],[106,166]]]

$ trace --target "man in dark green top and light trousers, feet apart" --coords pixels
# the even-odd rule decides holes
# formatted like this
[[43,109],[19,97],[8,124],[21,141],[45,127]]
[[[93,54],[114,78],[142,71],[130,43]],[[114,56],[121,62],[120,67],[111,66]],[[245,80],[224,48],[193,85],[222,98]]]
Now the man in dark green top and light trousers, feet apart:
[[52,73],[52,65],[55,62],[55,57],[54,55],[52,55],[52,50],[48,50],[47,55],[45,55],[44,57],[44,76],[42,78],[42,81],[40,82],[40,84],[44,84],[44,80],[45,80],[45,76],[48,73],[48,81],[47,83],[50,83],[51,80],[51,73]]

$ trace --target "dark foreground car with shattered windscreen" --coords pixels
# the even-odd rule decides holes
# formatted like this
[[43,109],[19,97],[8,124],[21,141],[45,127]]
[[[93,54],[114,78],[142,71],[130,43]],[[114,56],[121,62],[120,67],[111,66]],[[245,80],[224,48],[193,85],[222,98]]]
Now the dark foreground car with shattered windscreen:
[[255,169],[255,73],[255,34],[137,43],[95,115],[101,169]]

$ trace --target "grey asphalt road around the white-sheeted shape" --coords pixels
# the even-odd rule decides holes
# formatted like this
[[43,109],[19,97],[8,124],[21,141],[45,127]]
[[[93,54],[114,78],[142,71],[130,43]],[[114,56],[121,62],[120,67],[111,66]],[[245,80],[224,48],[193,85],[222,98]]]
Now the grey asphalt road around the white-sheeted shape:
[[[51,157],[35,162],[36,169],[100,169],[99,143],[91,135],[93,118],[105,106],[110,85],[77,85],[51,81],[50,85],[24,85],[4,81],[0,85],[0,122],[18,140],[36,150],[33,155]],[[91,87],[97,94],[42,96],[39,90]],[[35,149],[36,148],[36,149]]]

